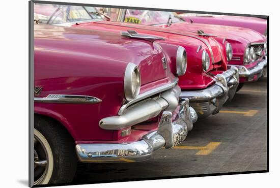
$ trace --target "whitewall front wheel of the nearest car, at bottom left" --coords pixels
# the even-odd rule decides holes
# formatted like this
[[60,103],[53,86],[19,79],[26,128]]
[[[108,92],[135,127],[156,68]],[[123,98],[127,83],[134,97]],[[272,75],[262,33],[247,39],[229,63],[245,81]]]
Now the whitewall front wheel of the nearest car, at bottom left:
[[34,184],[69,183],[77,168],[75,144],[60,125],[35,118]]

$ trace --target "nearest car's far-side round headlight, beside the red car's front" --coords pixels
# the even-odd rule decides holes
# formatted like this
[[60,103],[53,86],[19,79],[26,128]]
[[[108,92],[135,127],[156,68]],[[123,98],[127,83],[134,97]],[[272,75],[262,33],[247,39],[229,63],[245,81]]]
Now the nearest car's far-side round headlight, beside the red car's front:
[[187,70],[187,52],[185,48],[179,46],[176,55],[176,71],[178,76],[182,76]]

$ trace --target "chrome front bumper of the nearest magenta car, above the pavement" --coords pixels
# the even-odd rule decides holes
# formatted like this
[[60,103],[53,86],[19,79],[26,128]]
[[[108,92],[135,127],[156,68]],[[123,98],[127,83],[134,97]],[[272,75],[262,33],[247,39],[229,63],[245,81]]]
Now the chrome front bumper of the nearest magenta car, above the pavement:
[[139,162],[152,157],[153,151],[172,148],[185,140],[188,128],[192,128],[192,117],[188,100],[180,102],[180,111],[172,122],[172,112],[163,111],[157,131],[145,135],[132,143],[77,144],[79,161],[91,163]]

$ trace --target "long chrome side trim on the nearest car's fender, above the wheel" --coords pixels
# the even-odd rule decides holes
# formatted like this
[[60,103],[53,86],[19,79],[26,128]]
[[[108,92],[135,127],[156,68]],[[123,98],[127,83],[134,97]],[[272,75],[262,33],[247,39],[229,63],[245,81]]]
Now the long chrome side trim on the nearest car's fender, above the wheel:
[[73,104],[95,104],[102,101],[96,97],[79,96],[79,95],[61,95],[50,94],[44,98],[34,98],[34,102],[38,103],[73,103]]

